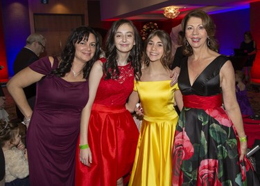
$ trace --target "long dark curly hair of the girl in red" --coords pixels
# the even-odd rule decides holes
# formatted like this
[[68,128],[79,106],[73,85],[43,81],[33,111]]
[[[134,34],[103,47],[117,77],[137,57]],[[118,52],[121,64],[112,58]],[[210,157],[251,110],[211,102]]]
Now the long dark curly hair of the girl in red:
[[116,45],[114,44],[114,36],[116,35],[116,31],[118,30],[119,26],[123,24],[129,24],[134,30],[135,45],[130,51],[128,62],[131,62],[131,66],[134,68],[135,77],[138,80],[141,77],[141,37],[132,21],[127,19],[119,19],[112,24],[110,30],[107,33],[107,39],[105,42],[105,56],[107,58],[107,62],[105,62],[105,64],[103,65],[103,71],[105,73],[106,80],[116,79],[119,77],[119,68],[116,62],[118,56],[116,52]]

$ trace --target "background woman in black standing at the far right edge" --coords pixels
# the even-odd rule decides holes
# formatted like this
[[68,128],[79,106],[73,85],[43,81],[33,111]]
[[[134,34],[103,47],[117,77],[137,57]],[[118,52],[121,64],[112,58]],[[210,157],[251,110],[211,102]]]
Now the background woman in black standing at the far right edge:
[[244,41],[241,42],[240,48],[248,53],[248,60],[245,62],[243,71],[245,72],[245,81],[250,85],[250,73],[257,54],[257,44],[252,38],[251,32],[244,33]]

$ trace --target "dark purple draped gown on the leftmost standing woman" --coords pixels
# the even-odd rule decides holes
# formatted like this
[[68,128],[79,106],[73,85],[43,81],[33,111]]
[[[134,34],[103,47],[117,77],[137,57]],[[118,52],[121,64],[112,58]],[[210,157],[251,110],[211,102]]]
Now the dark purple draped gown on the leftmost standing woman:
[[37,82],[37,97],[26,142],[31,186],[74,185],[75,154],[80,114],[89,98],[88,82],[67,82],[51,75],[49,57],[29,66],[44,74]]

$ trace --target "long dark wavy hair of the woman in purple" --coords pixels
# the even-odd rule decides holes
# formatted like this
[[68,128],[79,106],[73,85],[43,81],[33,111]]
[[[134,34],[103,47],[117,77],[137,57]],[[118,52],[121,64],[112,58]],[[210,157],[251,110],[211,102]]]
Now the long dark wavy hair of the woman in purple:
[[86,62],[85,66],[83,67],[83,78],[87,79],[89,77],[90,70],[94,62],[98,60],[101,50],[98,35],[92,28],[88,26],[80,26],[73,29],[71,35],[69,35],[67,39],[66,46],[64,46],[64,49],[62,50],[59,67],[52,72],[53,74],[58,77],[64,77],[66,73],[71,71],[71,66],[75,57],[75,44],[79,44],[80,41],[83,40],[88,41],[89,34],[91,33],[96,37],[96,51],[94,57],[92,57],[89,62]]

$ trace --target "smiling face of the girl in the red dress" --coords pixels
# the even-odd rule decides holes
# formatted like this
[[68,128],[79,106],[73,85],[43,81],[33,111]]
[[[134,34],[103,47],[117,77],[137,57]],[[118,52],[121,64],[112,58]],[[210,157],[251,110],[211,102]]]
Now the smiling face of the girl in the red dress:
[[129,53],[135,45],[134,29],[130,24],[122,24],[114,35],[114,44],[117,52]]

